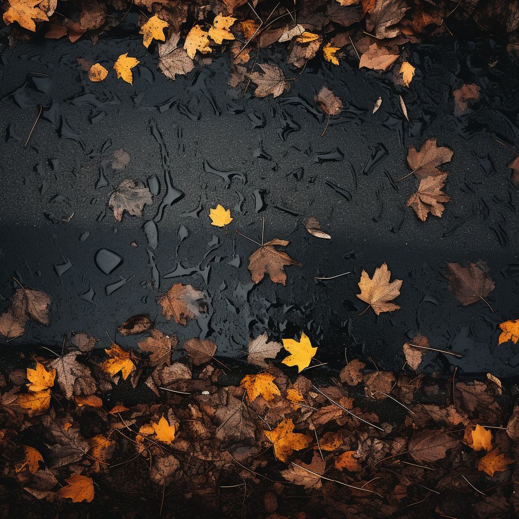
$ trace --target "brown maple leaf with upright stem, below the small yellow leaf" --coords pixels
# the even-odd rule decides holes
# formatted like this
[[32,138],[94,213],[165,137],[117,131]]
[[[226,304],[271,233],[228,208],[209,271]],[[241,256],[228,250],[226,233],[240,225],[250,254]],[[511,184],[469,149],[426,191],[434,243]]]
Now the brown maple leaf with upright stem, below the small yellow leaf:
[[267,241],[259,249],[251,254],[249,257],[249,270],[252,274],[252,281],[259,283],[265,273],[270,276],[270,279],[275,283],[285,284],[286,274],[283,269],[284,265],[296,265],[302,267],[301,263],[298,263],[286,254],[286,252],[277,251],[275,245],[288,245],[288,240],[280,240],[274,238],[273,240]]

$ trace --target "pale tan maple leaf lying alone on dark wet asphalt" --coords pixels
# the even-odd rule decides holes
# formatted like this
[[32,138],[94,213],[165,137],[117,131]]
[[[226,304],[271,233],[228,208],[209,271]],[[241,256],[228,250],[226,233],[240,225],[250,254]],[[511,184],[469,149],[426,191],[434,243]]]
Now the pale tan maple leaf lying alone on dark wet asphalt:
[[370,279],[367,272],[362,270],[359,282],[361,293],[357,294],[357,297],[368,303],[377,316],[381,312],[391,312],[400,308],[400,306],[389,302],[400,294],[402,280],[396,279],[390,283],[390,277],[391,272],[388,270],[386,263],[375,269],[373,279]]

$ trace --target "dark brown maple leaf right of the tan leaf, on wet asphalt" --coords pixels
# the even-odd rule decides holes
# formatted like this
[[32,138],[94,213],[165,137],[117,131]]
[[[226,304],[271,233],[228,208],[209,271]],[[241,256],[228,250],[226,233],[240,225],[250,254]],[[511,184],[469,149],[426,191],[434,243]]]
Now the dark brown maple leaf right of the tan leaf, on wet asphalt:
[[447,263],[449,290],[463,306],[482,299],[492,310],[484,299],[496,286],[489,272],[488,264],[481,260],[477,263],[469,262],[467,267],[462,267],[459,263]]

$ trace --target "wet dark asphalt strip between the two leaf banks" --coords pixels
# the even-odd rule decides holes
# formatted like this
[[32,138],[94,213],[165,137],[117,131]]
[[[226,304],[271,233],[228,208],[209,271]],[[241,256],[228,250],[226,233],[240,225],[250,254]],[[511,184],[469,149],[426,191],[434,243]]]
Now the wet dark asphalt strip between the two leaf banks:
[[[412,88],[395,87],[390,72],[359,71],[353,60],[334,67],[314,59],[303,72],[281,64],[294,78],[290,91],[257,99],[228,86],[226,56],[168,82],[153,46],[143,53],[129,35],[134,24],[130,14],[118,37],[95,46],[35,39],[2,53],[0,293],[7,306],[21,283],[53,300],[47,327],[30,323],[22,337],[2,341],[4,362],[26,348],[61,350],[64,335],[79,330],[100,338],[99,348],[107,335],[137,348],[141,336],[117,327],[147,313],[180,345],[211,338],[217,358],[235,367],[247,363],[240,350],[249,337],[304,331],[326,363],[316,376],[336,375],[345,351],[400,370],[402,345],[419,332],[431,347],[463,355],[431,353],[426,373],[452,376],[457,366],[458,374],[515,375],[519,350],[497,342],[499,323],[517,317],[517,190],[507,168],[513,155],[501,143],[519,138],[519,66],[497,38],[461,26],[457,37],[412,45]],[[92,84],[76,61],[125,52],[140,60],[133,85],[115,75]],[[281,63],[275,45],[264,52]],[[481,98],[456,117],[452,91],[463,83],[479,85]],[[313,98],[323,85],[345,108],[321,135],[326,119]],[[407,147],[430,137],[454,150],[444,166],[452,202],[442,218],[421,222],[405,205],[416,182],[398,179],[409,173]],[[131,160],[114,170],[120,148]],[[154,203],[117,222],[108,199],[125,179],[147,185]],[[218,203],[234,218],[226,230],[208,216]],[[308,216],[332,239],[311,236]],[[302,264],[286,267],[285,286],[268,278],[255,285],[247,269],[257,245],[235,231],[261,242],[263,225],[264,240],[289,240],[286,252]],[[480,259],[496,285],[489,306],[461,306],[445,264]],[[360,274],[384,262],[391,279],[403,280],[401,309],[359,316]],[[157,304],[179,282],[204,291],[209,309],[185,327],[164,321]]]

